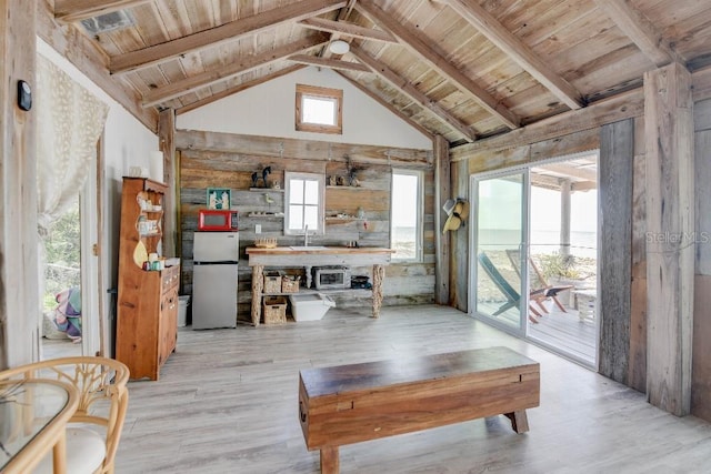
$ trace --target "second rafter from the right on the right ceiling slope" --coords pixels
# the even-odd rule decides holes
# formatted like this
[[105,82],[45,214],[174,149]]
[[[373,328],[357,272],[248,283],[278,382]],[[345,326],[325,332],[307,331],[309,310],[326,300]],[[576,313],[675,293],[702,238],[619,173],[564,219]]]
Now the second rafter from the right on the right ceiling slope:
[[543,87],[571,109],[584,104],[582,94],[567,80],[555,74],[525,43],[507,30],[474,0],[445,0],[454,11],[485,36]]

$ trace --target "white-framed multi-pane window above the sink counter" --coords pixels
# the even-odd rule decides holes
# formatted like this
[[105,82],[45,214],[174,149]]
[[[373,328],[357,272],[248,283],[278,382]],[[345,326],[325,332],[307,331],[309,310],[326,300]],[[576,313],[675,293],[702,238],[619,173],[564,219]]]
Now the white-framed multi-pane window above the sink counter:
[[323,233],[323,174],[284,172],[284,234]]

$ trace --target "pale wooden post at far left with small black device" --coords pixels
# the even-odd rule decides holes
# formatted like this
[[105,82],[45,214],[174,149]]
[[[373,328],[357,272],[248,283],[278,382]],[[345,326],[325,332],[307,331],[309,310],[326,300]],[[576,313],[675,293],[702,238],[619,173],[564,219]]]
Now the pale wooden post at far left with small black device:
[[39,357],[36,110],[18,107],[18,81],[37,99],[36,1],[0,0],[0,370]]

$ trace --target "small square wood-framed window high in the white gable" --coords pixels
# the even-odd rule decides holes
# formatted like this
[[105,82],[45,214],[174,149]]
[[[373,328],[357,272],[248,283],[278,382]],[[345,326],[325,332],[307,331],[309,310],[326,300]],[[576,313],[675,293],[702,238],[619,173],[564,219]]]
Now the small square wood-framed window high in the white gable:
[[316,133],[343,133],[343,91],[297,84],[297,130]]

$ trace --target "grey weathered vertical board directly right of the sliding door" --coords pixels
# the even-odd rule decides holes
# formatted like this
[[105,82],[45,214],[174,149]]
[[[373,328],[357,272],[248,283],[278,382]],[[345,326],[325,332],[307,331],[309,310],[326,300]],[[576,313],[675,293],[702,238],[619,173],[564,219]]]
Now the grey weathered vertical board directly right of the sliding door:
[[628,382],[634,120],[602,125],[598,178],[600,289],[599,371]]

